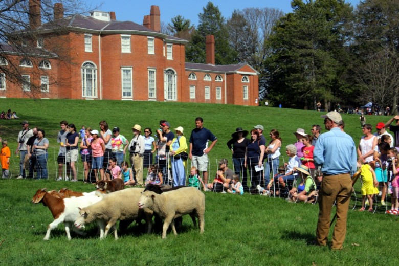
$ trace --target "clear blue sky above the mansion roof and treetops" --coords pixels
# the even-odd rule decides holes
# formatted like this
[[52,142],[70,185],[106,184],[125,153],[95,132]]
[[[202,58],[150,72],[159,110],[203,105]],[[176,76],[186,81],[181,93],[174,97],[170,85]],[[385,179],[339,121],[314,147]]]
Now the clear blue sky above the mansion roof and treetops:
[[[169,23],[172,17],[181,15],[191,20],[191,24],[198,24],[198,14],[209,0],[91,0],[87,1],[92,7],[100,6],[99,10],[116,13],[117,20],[129,20],[142,24],[144,15],[149,15],[151,5],[157,5],[161,11],[161,21]],[[346,0],[356,7],[360,0]],[[234,9],[249,7],[269,7],[281,9],[284,13],[291,12],[291,0],[252,0],[246,4],[242,0],[213,0],[212,3],[219,7],[221,14],[227,19]]]

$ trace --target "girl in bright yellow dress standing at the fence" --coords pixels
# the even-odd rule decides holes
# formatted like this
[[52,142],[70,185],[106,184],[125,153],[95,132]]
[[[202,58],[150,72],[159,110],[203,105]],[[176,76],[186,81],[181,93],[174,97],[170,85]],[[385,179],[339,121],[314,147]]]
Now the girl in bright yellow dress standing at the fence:
[[366,209],[366,196],[370,207],[368,209],[369,212],[373,212],[373,196],[374,194],[378,194],[378,181],[375,176],[375,172],[373,168],[369,164],[363,164],[363,159],[358,160],[358,167],[361,168],[362,172],[360,173],[360,177],[362,179],[362,208],[359,211],[364,211]]

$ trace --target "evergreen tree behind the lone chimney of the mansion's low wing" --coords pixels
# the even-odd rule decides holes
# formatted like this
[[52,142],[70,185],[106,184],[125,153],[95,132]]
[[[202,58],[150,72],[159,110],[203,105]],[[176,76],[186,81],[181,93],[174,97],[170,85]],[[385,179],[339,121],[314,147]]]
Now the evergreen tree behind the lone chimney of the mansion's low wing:
[[[229,45],[229,35],[226,30],[225,18],[219,8],[212,2],[208,2],[203,8],[203,13],[198,14],[199,24],[192,34],[190,43],[186,49],[186,61],[205,62],[205,37],[215,37],[215,64],[232,64],[237,61],[237,53]],[[203,52],[201,52],[203,51]]]

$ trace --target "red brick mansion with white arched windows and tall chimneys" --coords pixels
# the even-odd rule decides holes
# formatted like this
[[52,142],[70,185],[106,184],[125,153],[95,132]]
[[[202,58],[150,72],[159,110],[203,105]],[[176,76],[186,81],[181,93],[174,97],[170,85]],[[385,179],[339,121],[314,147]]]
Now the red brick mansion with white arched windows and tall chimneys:
[[246,63],[215,65],[212,35],[206,38],[207,63],[185,62],[188,41],[160,32],[158,6],[139,25],[116,20],[114,12],[64,17],[57,3],[54,18],[63,30],[54,34],[54,23],[41,24],[40,1],[29,5],[30,27],[40,38],[25,44],[34,46],[29,55],[12,41],[0,44],[1,69],[14,65],[24,80],[10,82],[0,70],[2,98],[255,105],[258,72]]

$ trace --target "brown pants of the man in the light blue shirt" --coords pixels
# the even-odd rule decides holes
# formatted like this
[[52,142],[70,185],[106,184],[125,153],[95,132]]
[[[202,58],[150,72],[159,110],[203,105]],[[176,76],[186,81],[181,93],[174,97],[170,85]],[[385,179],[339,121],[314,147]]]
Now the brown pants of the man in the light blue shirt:
[[330,230],[331,208],[337,206],[337,221],[334,227],[331,249],[342,249],[346,235],[346,217],[352,193],[350,174],[325,175],[319,193],[319,220],[316,237],[320,246],[327,245]]

